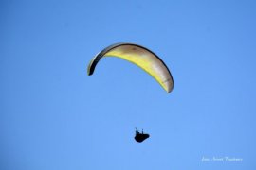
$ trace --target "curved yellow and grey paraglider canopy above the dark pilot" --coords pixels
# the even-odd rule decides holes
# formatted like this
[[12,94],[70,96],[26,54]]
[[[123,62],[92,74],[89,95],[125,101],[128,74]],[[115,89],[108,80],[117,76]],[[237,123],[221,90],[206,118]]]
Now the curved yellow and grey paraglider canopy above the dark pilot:
[[103,57],[117,57],[136,64],[153,76],[155,80],[170,93],[174,88],[174,80],[166,64],[149,49],[134,43],[115,43],[103,49],[88,65],[88,75],[94,73],[97,63]]

